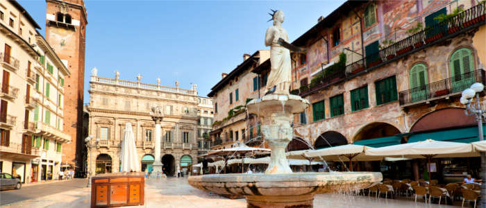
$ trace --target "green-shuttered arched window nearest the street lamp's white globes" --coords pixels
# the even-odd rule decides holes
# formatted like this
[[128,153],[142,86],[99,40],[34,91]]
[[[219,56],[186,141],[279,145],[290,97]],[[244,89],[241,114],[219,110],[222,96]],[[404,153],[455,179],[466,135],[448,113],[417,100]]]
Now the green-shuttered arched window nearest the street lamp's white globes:
[[474,83],[474,58],[471,49],[458,49],[451,55],[453,92],[460,92]]

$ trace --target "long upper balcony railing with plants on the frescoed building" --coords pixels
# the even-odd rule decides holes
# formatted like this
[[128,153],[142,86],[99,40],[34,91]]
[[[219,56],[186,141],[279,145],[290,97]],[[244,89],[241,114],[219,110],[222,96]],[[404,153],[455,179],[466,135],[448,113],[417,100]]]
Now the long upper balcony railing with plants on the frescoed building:
[[[464,34],[471,28],[476,28],[480,25],[486,24],[486,2],[479,3],[478,5],[460,12],[458,15],[439,22],[433,26],[428,26],[422,31],[410,35],[399,42],[396,42],[385,49],[378,51],[377,53],[367,54],[366,57],[353,62],[335,74],[330,74],[324,77],[321,82],[311,87],[301,87],[299,94],[301,96],[308,96],[317,90],[324,89],[329,85],[338,83],[346,78],[358,76],[359,74],[366,73],[372,69],[382,67],[389,62],[399,60],[405,55],[415,53],[423,50],[428,46],[432,46],[438,42],[442,42],[451,37],[455,37],[460,34]],[[366,70],[366,71],[365,71]],[[345,76],[343,76],[346,71]]]

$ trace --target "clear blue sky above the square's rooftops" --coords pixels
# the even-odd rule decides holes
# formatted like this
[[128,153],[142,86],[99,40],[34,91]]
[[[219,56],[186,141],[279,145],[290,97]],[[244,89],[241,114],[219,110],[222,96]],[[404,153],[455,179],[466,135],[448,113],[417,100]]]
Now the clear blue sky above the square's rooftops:
[[[19,0],[42,27],[46,2]],[[87,35],[85,103],[89,102],[91,69],[98,76],[143,83],[196,83],[206,96],[243,60],[243,53],[268,49],[264,36],[269,9],[283,10],[283,27],[292,42],[326,17],[344,0],[330,1],[95,1],[85,0]]]

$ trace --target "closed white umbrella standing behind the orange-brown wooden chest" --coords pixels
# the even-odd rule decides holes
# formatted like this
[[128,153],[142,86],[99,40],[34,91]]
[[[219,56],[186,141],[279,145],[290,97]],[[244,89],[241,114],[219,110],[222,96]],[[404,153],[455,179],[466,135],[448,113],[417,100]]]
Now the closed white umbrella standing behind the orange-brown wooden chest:
[[137,147],[135,146],[135,135],[133,135],[132,124],[125,125],[125,137],[121,141],[121,172],[139,172],[140,163],[138,162]]

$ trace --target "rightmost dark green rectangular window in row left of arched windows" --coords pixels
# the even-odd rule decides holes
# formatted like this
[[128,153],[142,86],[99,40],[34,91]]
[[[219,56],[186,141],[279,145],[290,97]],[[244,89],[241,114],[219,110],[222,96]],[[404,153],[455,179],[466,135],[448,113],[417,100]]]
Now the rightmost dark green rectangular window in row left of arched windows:
[[375,83],[376,91],[376,105],[381,105],[396,101],[398,98],[396,92],[396,79],[395,76],[379,80]]

